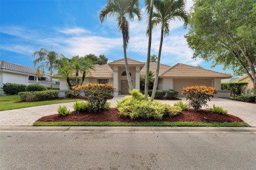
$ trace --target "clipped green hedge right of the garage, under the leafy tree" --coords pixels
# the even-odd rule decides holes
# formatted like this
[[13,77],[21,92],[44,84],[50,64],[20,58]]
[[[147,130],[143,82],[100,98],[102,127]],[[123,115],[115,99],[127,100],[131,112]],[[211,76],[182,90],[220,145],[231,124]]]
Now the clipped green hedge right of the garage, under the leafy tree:
[[222,82],[221,90],[230,90],[231,95],[241,95],[248,82]]

